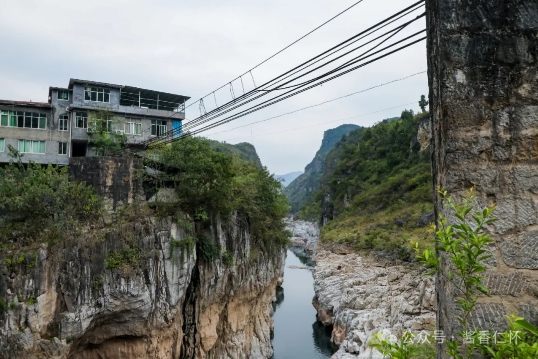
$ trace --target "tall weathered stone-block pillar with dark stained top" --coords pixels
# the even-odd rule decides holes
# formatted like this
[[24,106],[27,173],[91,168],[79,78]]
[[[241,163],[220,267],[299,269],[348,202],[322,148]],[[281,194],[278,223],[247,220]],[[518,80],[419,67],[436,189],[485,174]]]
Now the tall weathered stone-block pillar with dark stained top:
[[[505,329],[505,314],[538,308],[538,2],[428,0],[434,185],[497,203],[487,273],[491,298],[473,325]],[[445,213],[436,203],[436,215]],[[445,213],[447,214],[447,213]],[[453,288],[437,281],[438,327],[455,330]]]

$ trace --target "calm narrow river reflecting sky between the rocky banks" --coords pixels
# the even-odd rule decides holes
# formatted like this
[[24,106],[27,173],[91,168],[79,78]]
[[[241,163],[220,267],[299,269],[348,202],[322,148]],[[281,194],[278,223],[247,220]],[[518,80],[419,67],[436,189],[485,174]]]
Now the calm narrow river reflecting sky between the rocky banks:
[[308,262],[288,251],[284,284],[275,303],[273,359],[326,359],[336,351],[331,347],[330,332],[316,321],[312,272],[289,268]]

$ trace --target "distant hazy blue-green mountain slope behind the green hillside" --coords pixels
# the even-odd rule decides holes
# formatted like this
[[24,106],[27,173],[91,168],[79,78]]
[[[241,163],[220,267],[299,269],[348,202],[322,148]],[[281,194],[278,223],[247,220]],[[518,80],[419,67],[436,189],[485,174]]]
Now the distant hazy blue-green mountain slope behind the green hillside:
[[314,159],[304,170],[304,173],[293,180],[286,188],[284,194],[288,198],[291,212],[296,213],[303,205],[312,199],[312,195],[319,189],[320,179],[323,175],[325,157],[334,145],[352,130],[360,130],[357,125],[341,125],[325,131],[321,147]]

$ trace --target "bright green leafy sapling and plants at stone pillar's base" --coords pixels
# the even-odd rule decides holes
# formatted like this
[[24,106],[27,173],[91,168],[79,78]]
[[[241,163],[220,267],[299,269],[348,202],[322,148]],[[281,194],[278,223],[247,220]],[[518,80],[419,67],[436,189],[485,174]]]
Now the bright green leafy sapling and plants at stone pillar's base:
[[[486,248],[492,240],[484,229],[497,220],[492,217],[495,206],[474,210],[475,194],[472,188],[460,202],[454,202],[446,191],[438,192],[458,220],[455,224],[449,224],[446,218],[440,217],[435,236],[437,251],[444,253],[450,262],[442,265],[444,259],[430,249],[419,250],[417,247],[416,251],[417,258],[431,268],[430,274],[446,277],[459,291],[455,302],[462,314],[456,319],[461,324],[459,337],[464,339],[464,344],[461,345],[458,339],[448,340],[446,354],[455,359],[538,357],[538,328],[523,318],[508,316],[509,331],[500,333],[500,338],[497,338],[497,333],[470,330],[469,315],[479,297],[489,296],[482,273],[486,270],[485,261],[491,257]],[[493,343],[489,339],[481,340],[484,335],[486,338],[494,335],[496,340]],[[409,341],[404,338],[395,343],[378,333],[372,346],[388,358],[414,358]]]

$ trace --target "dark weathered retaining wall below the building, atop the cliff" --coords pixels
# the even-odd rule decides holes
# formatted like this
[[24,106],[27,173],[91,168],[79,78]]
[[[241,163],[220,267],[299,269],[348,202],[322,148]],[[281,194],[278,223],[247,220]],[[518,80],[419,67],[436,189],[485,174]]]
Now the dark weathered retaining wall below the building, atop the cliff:
[[72,157],[70,178],[92,185],[109,210],[144,200],[142,160],[131,157]]

